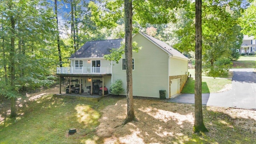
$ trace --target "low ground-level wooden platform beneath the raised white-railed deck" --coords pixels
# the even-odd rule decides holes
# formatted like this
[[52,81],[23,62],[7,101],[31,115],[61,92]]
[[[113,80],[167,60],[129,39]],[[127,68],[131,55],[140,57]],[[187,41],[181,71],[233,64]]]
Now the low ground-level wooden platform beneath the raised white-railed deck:
[[[108,95],[105,95],[108,96]],[[92,102],[98,102],[103,96],[99,95],[88,95],[86,93],[83,94],[54,94],[53,97],[57,98],[70,98],[75,100],[88,100]]]

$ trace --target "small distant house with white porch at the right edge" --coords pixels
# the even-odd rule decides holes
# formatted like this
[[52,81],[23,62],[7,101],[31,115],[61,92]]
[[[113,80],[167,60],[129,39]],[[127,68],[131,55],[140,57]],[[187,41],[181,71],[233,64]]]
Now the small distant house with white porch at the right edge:
[[256,40],[254,36],[244,35],[243,43],[239,49],[240,54],[250,55],[256,53]]

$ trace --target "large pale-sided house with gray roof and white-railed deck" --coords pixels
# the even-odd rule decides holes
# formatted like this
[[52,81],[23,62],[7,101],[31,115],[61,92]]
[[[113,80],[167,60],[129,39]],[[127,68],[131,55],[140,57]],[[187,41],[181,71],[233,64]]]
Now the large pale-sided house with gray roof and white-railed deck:
[[[142,32],[134,34],[132,41],[142,47],[133,52],[133,95],[159,98],[159,91],[165,91],[165,98],[179,94],[188,77],[188,58],[168,44]],[[118,64],[103,58],[112,48],[120,48],[124,39],[86,42],[71,57],[71,67],[57,68],[57,74],[79,79],[85,92],[92,81],[103,81],[106,88],[118,79],[122,80],[126,95],[125,56]]]

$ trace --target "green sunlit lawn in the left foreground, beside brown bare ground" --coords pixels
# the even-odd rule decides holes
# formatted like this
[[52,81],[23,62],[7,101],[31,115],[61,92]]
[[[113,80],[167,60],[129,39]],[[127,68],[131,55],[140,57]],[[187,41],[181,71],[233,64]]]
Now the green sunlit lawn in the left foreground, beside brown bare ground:
[[[103,99],[97,103],[48,95],[27,102],[19,106],[16,119],[0,122],[0,144],[86,143],[94,139],[100,110],[117,100],[119,98]],[[68,137],[70,128],[76,128],[78,133]]]

